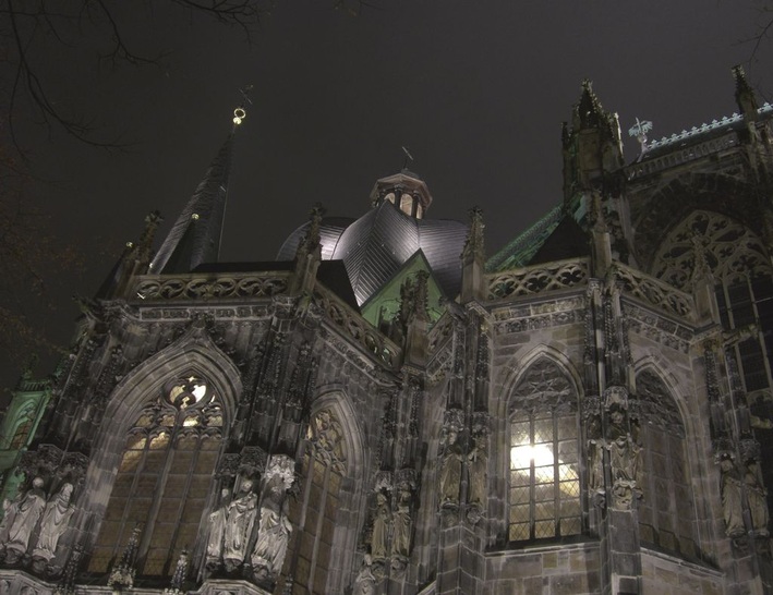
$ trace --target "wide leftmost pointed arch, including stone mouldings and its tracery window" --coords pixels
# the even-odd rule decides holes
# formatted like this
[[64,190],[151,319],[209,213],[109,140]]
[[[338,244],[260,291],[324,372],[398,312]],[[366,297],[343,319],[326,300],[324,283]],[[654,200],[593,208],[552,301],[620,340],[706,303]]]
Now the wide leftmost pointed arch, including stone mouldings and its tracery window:
[[173,570],[214,497],[212,477],[241,388],[231,360],[195,326],[121,380],[87,470],[87,484],[104,486],[84,495],[92,572],[107,571],[136,523],[144,527],[141,573]]

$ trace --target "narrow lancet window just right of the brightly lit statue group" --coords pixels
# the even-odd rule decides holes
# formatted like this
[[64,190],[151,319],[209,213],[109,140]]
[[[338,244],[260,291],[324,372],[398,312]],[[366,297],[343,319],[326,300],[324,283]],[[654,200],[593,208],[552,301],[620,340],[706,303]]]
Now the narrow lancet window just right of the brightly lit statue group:
[[329,572],[341,563],[334,556],[333,543],[348,467],[346,440],[330,409],[312,416],[305,438],[301,493],[290,499],[290,520],[297,530],[285,570],[293,576],[291,593],[329,593]]

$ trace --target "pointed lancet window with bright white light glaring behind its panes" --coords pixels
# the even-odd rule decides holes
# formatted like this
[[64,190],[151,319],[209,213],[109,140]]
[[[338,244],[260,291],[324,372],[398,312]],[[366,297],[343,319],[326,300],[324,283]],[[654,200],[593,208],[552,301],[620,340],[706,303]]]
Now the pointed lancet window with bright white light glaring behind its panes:
[[577,391],[539,360],[510,399],[510,542],[581,532],[578,436]]

